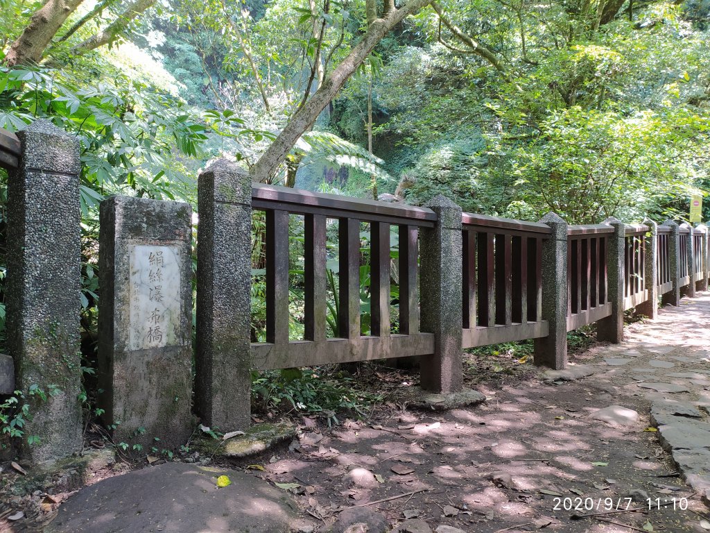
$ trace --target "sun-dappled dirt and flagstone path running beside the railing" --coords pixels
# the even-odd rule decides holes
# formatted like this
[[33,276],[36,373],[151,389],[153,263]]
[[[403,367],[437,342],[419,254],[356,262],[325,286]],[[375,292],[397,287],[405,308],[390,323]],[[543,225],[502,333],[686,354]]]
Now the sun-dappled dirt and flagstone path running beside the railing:
[[[572,381],[544,379],[542,372],[542,380],[511,378],[502,388],[477,387],[485,404],[443,413],[391,402],[364,421],[302,427],[288,449],[257,458],[215,456],[212,465],[280,484],[274,490],[293,497],[300,513],[290,525],[302,533],[348,531],[343,519],[350,515],[367,519],[368,533],[707,533],[710,515],[701,492],[710,465],[709,319],[710,294],[684,298],[657,321],[631,325],[622,345],[598,345],[576,357]],[[648,431],[652,424],[660,431]],[[679,478],[662,446],[698,490]],[[231,508],[203,505],[214,494],[211,486],[186,498],[180,485],[161,483],[153,467],[121,476],[128,488],[116,507],[120,518],[108,522],[116,529],[107,531],[141,530],[130,529],[131,515],[120,509],[146,505],[140,500],[150,496],[131,491],[131,478],[151,473],[158,478],[155,491],[165,491],[154,503],[163,514],[173,512],[165,514],[171,522],[147,531],[207,533],[215,517],[232,518]],[[62,504],[65,516],[97,524],[110,515],[105,509],[92,514],[96,501],[88,497],[99,485],[110,492],[109,482],[117,483],[104,480]],[[253,489],[233,488],[253,495]],[[633,502],[626,500],[632,496]],[[671,504],[655,503],[663,500]],[[576,516],[609,506],[638,512]],[[244,512],[263,517],[250,504]],[[188,514],[190,527],[183,522]],[[62,523],[56,531],[75,532],[74,526],[62,530]],[[226,530],[242,529],[226,524]]]

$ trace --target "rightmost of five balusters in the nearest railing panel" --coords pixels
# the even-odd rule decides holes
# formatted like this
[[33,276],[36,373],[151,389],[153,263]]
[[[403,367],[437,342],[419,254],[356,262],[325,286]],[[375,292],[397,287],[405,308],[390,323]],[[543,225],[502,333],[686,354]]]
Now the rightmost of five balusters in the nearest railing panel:
[[416,226],[399,227],[400,333],[419,333],[419,302],[417,301],[417,258],[419,230]]

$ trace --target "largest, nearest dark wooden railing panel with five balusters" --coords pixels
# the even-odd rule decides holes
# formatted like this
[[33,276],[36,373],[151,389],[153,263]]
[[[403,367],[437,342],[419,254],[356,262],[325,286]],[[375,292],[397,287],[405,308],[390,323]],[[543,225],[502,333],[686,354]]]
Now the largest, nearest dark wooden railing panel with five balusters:
[[[437,217],[425,208],[273,185],[252,186],[252,208],[266,212],[266,343],[253,343],[256,369],[383,359],[433,352],[434,338],[419,330],[418,232]],[[305,338],[289,340],[289,215],[305,229]],[[326,221],[338,220],[338,331],[326,337]],[[371,335],[361,335],[360,223],[370,225]],[[399,236],[400,333],[391,335],[391,226]]]

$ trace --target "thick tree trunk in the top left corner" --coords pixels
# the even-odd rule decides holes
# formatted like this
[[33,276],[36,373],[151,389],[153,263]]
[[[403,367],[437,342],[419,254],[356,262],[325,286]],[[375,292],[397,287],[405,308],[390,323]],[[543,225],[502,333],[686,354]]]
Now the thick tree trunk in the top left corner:
[[5,64],[13,67],[27,63],[39,63],[47,45],[82,1],[48,0],[46,4],[35,11],[22,35],[12,43],[5,56]]

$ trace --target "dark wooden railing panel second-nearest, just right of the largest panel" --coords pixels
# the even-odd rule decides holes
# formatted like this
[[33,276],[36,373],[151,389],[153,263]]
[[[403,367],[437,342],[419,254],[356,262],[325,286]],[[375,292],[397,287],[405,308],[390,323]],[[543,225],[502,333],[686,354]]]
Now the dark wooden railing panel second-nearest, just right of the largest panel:
[[545,337],[542,241],[550,227],[466,213],[463,222],[463,347]]

